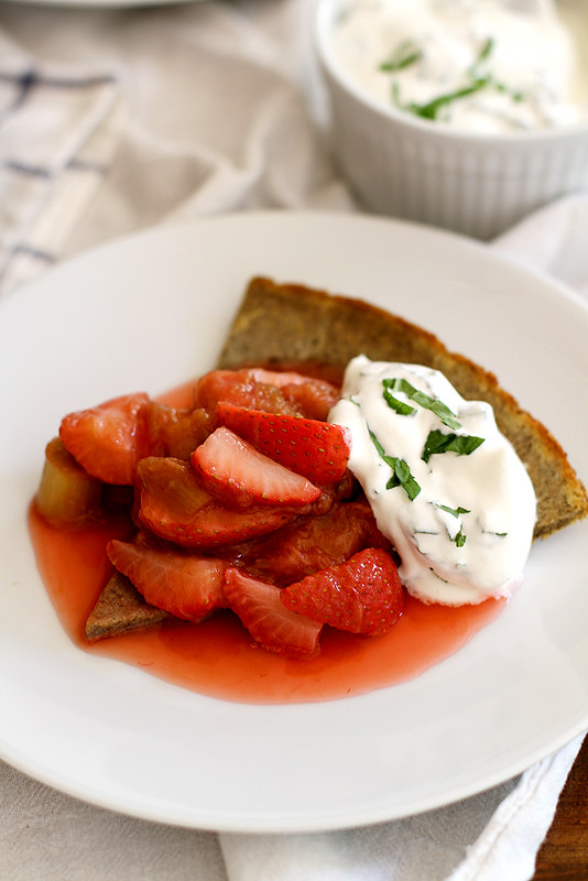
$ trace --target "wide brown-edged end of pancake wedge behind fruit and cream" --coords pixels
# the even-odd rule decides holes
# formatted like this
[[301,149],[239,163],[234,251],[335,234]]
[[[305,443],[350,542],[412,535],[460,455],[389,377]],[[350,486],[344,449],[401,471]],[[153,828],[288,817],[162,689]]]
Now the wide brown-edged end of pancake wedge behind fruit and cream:
[[493,373],[449,351],[432,333],[361,300],[300,284],[253,279],[237,312],[218,366],[272,361],[345,368],[356,355],[440,370],[464,398],[492,404],[501,431],[525,463],[537,496],[535,537],[588,514],[586,489],[547,428],[523,411]]

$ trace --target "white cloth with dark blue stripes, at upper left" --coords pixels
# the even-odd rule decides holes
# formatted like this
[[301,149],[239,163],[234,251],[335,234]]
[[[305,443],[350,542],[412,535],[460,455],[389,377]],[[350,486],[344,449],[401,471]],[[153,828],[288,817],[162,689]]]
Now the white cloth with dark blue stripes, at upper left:
[[0,297],[55,262],[113,156],[120,81],[0,34]]

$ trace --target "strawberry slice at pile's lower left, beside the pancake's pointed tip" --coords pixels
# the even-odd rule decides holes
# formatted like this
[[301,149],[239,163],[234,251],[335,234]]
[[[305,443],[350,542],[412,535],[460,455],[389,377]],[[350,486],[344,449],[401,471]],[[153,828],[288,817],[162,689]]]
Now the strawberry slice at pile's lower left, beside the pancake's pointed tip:
[[118,539],[106,547],[110,562],[150,606],[198,623],[225,603],[226,563],[181,551],[130,544]]

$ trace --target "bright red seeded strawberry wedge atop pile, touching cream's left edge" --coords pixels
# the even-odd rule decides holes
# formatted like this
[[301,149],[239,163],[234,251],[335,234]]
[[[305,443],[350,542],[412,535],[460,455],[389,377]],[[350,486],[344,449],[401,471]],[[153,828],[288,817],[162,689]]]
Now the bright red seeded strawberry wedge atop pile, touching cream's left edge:
[[255,449],[314,483],[335,483],[349,461],[348,434],[340,425],[286,414],[275,415],[221,401],[218,415]]

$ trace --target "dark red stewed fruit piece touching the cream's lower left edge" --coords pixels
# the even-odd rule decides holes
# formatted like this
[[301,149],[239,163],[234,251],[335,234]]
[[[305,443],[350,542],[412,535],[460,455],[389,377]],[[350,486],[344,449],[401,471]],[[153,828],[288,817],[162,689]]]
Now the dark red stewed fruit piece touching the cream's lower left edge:
[[235,548],[239,564],[255,578],[285,587],[317,569],[344,563],[366,547],[389,548],[367,502],[336,504],[324,516],[305,518]]

